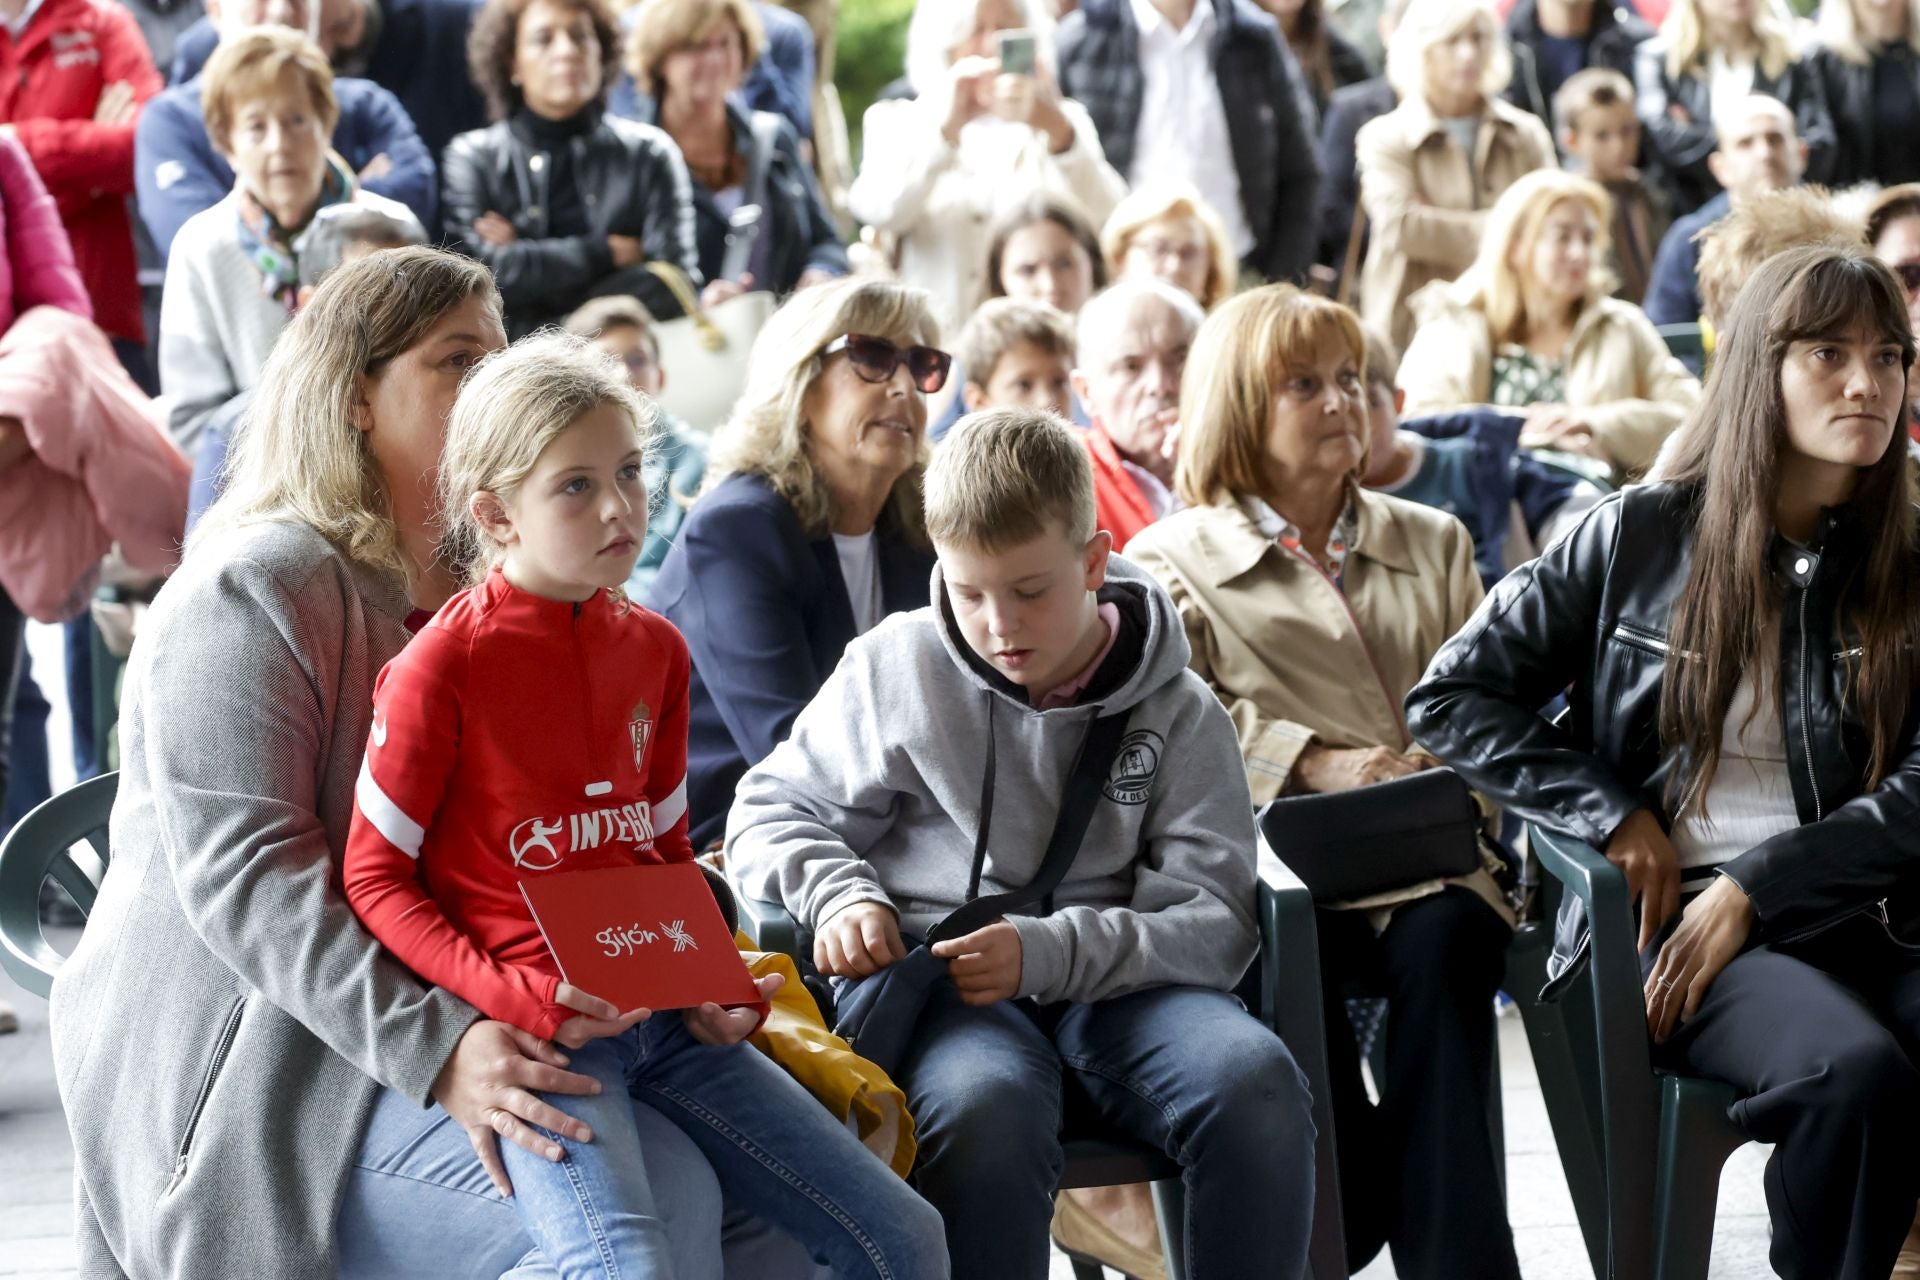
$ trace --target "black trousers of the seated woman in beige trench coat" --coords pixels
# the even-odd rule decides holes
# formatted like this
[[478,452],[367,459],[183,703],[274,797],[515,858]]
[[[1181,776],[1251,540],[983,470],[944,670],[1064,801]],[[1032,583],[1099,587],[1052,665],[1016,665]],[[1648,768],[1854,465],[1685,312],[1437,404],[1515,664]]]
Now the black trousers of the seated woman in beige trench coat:
[[[1402,1280],[1519,1280],[1486,1125],[1494,992],[1513,933],[1469,889],[1394,910],[1315,912],[1348,1267],[1380,1245]],[[1386,1079],[1367,1100],[1346,996],[1386,998]],[[1884,1280],[1884,1278],[1882,1278]]]

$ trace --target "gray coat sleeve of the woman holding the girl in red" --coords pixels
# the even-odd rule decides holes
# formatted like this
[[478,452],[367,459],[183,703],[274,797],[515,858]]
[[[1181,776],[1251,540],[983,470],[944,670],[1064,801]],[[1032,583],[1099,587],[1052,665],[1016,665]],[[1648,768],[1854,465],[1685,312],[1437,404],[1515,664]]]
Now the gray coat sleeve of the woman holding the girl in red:
[[169,610],[142,635],[144,764],[194,933],[328,1048],[424,1105],[478,1015],[382,952],[338,885],[319,779],[346,589],[326,570],[294,589],[232,560],[194,608]]

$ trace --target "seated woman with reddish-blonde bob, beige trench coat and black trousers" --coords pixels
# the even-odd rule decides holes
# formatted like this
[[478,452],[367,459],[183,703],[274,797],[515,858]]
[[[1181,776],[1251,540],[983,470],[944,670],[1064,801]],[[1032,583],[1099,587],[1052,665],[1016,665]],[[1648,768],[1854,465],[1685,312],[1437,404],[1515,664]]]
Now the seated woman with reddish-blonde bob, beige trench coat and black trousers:
[[[1352,311],[1284,284],[1208,317],[1181,388],[1187,509],[1127,547],[1181,612],[1254,804],[1428,768],[1400,702],[1482,595],[1459,520],[1359,486],[1365,349]],[[1319,912],[1348,1263],[1386,1244],[1409,1280],[1517,1278],[1486,1126],[1511,913],[1486,869],[1356,906]],[[1379,1105],[1346,1023],[1361,977],[1394,1027]]]

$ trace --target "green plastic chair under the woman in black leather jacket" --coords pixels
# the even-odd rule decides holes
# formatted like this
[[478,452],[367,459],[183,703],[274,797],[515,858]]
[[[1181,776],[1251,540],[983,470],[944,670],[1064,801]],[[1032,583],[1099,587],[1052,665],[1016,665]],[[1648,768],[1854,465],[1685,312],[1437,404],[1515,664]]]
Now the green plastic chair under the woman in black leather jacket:
[[1557,887],[1592,927],[1586,971],[1551,1004],[1530,988],[1521,1015],[1594,1274],[1705,1280],[1720,1169],[1747,1142],[1728,1119],[1734,1090],[1653,1069],[1626,877],[1578,841],[1528,831],[1548,919]]

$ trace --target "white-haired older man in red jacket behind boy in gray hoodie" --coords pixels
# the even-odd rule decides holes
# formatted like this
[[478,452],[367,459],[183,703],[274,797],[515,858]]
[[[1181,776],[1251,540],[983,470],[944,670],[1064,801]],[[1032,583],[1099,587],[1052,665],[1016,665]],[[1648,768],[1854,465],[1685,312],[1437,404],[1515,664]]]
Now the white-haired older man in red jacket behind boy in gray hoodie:
[[1200,303],[1164,280],[1121,280],[1081,307],[1073,395],[1092,422],[1081,443],[1114,551],[1177,507],[1181,374],[1204,319]]

